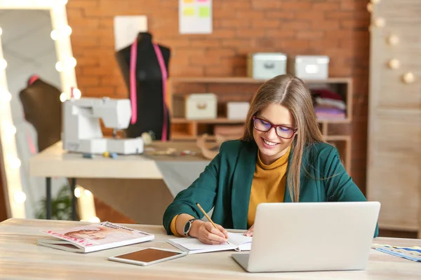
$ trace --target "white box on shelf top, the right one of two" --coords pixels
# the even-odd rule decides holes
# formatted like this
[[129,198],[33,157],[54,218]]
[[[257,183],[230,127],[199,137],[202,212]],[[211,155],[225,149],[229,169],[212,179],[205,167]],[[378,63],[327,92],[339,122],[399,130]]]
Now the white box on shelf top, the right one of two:
[[326,80],[329,77],[329,57],[297,55],[293,61],[293,75],[307,80]]

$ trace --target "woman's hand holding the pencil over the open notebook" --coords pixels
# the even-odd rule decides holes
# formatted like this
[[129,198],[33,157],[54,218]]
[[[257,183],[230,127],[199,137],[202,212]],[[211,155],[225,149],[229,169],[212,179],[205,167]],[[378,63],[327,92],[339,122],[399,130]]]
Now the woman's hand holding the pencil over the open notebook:
[[191,237],[196,237],[204,244],[224,244],[228,239],[228,232],[221,225],[216,225],[217,230],[212,223],[196,220],[192,223],[192,229],[189,232]]

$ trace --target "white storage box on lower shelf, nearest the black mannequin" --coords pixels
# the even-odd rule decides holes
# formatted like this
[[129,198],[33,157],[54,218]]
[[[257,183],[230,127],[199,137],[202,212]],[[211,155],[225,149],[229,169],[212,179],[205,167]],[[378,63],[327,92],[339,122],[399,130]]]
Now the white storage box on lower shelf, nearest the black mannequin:
[[213,93],[194,93],[173,96],[173,116],[200,120],[217,117],[217,97]]

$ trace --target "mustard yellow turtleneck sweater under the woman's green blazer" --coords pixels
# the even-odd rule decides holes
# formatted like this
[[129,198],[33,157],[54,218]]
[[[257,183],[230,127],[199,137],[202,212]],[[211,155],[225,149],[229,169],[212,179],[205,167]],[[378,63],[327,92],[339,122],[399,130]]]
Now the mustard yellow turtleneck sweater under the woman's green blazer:
[[[254,224],[256,209],[262,202],[283,202],[283,196],[286,188],[286,169],[288,167],[288,158],[290,148],[281,158],[277,159],[270,165],[264,165],[260,160],[256,162],[256,169],[251,183],[250,201],[248,203],[247,226],[250,228]],[[175,230],[175,220],[178,215],[171,221],[171,232],[178,235]]]

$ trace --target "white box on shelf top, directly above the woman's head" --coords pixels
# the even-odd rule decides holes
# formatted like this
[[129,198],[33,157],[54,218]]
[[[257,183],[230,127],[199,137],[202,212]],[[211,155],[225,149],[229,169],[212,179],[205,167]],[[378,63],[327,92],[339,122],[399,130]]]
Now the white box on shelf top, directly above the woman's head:
[[256,79],[270,79],[286,73],[287,57],[281,52],[250,53],[247,59],[248,76]]

